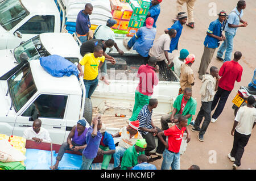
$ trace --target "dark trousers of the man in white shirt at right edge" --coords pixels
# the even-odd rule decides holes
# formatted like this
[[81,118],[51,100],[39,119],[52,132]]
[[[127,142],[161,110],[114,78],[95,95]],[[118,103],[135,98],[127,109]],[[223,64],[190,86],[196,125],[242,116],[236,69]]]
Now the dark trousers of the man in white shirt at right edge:
[[247,142],[249,141],[251,134],[245,135],[238,133],[235,129],[234,131],[234,142],[233,142],[233,148],[230,152],[230,155],[236,159],[234,164],[237,166],[241,165],[241,158],[243,155],[243,151],[245,151],[245,146],[247,145]]

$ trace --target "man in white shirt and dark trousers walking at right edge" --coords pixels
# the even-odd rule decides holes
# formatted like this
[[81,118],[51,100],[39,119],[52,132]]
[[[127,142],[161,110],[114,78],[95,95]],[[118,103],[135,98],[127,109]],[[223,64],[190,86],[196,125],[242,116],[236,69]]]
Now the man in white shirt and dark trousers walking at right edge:
[[233,170],[236,170],[241,165],[241,158],[251,136],[251,129],[256,124],[256,108],[253,107],[254,102],[254,96],[250,95],[247,98],[247,106],[240,107],[234,120],[231,131],[231,135],[234,136],[233,148],[230,154],[228,154],[230,161],[234,162]]

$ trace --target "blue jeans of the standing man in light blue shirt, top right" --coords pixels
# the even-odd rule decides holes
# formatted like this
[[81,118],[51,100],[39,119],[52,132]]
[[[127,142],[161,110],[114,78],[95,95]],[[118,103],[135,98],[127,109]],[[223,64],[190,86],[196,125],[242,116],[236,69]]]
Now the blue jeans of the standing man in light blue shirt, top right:
[[226,50],[224,62],[231,60],[231,56],[233,52],[233,39],[235,35],[225,31],[225,36],[226,36],[226,40],[221,44],[221,47],[220,49],[218,49],[218,52],[217,52],[217,57],[222,57]]

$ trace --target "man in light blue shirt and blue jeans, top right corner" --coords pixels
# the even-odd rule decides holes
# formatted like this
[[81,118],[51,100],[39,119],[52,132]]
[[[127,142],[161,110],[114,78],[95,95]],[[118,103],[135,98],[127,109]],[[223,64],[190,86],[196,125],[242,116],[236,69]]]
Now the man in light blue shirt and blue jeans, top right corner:
[[[218,49],[217,57],[216,57],[220,61],[225,62],[225,61],[231,60],[231,56],[233,52],[233,39],[234,39],[234,36],[236,35],[237,28],[247,26],[247,22],[241,19],[243,16],[243,10],[245,9],[245,7],[246,7],[245,1],[238,1],[237,7],[234,10],[232,10],[228,16],[227,22],[224,27],[226,39],[222,43],[220,49]],[[239,24],[239,23],[242,23],[242,24]],[[226,53],[223,59],[222,56],[225,51]]]

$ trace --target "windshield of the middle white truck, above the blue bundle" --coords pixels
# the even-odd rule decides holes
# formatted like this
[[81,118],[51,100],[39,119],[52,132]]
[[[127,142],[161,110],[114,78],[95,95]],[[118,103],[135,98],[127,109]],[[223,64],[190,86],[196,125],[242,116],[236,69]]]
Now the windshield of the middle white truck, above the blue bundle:
[[27,53],[28,61],[36,60],[40,57],[46,57],[50,55],[41,43],[39,35],[33,37],[32,39],[26,41],[14,49],[14,57],[18,63],[20,63],[19,56],[23,52]]

